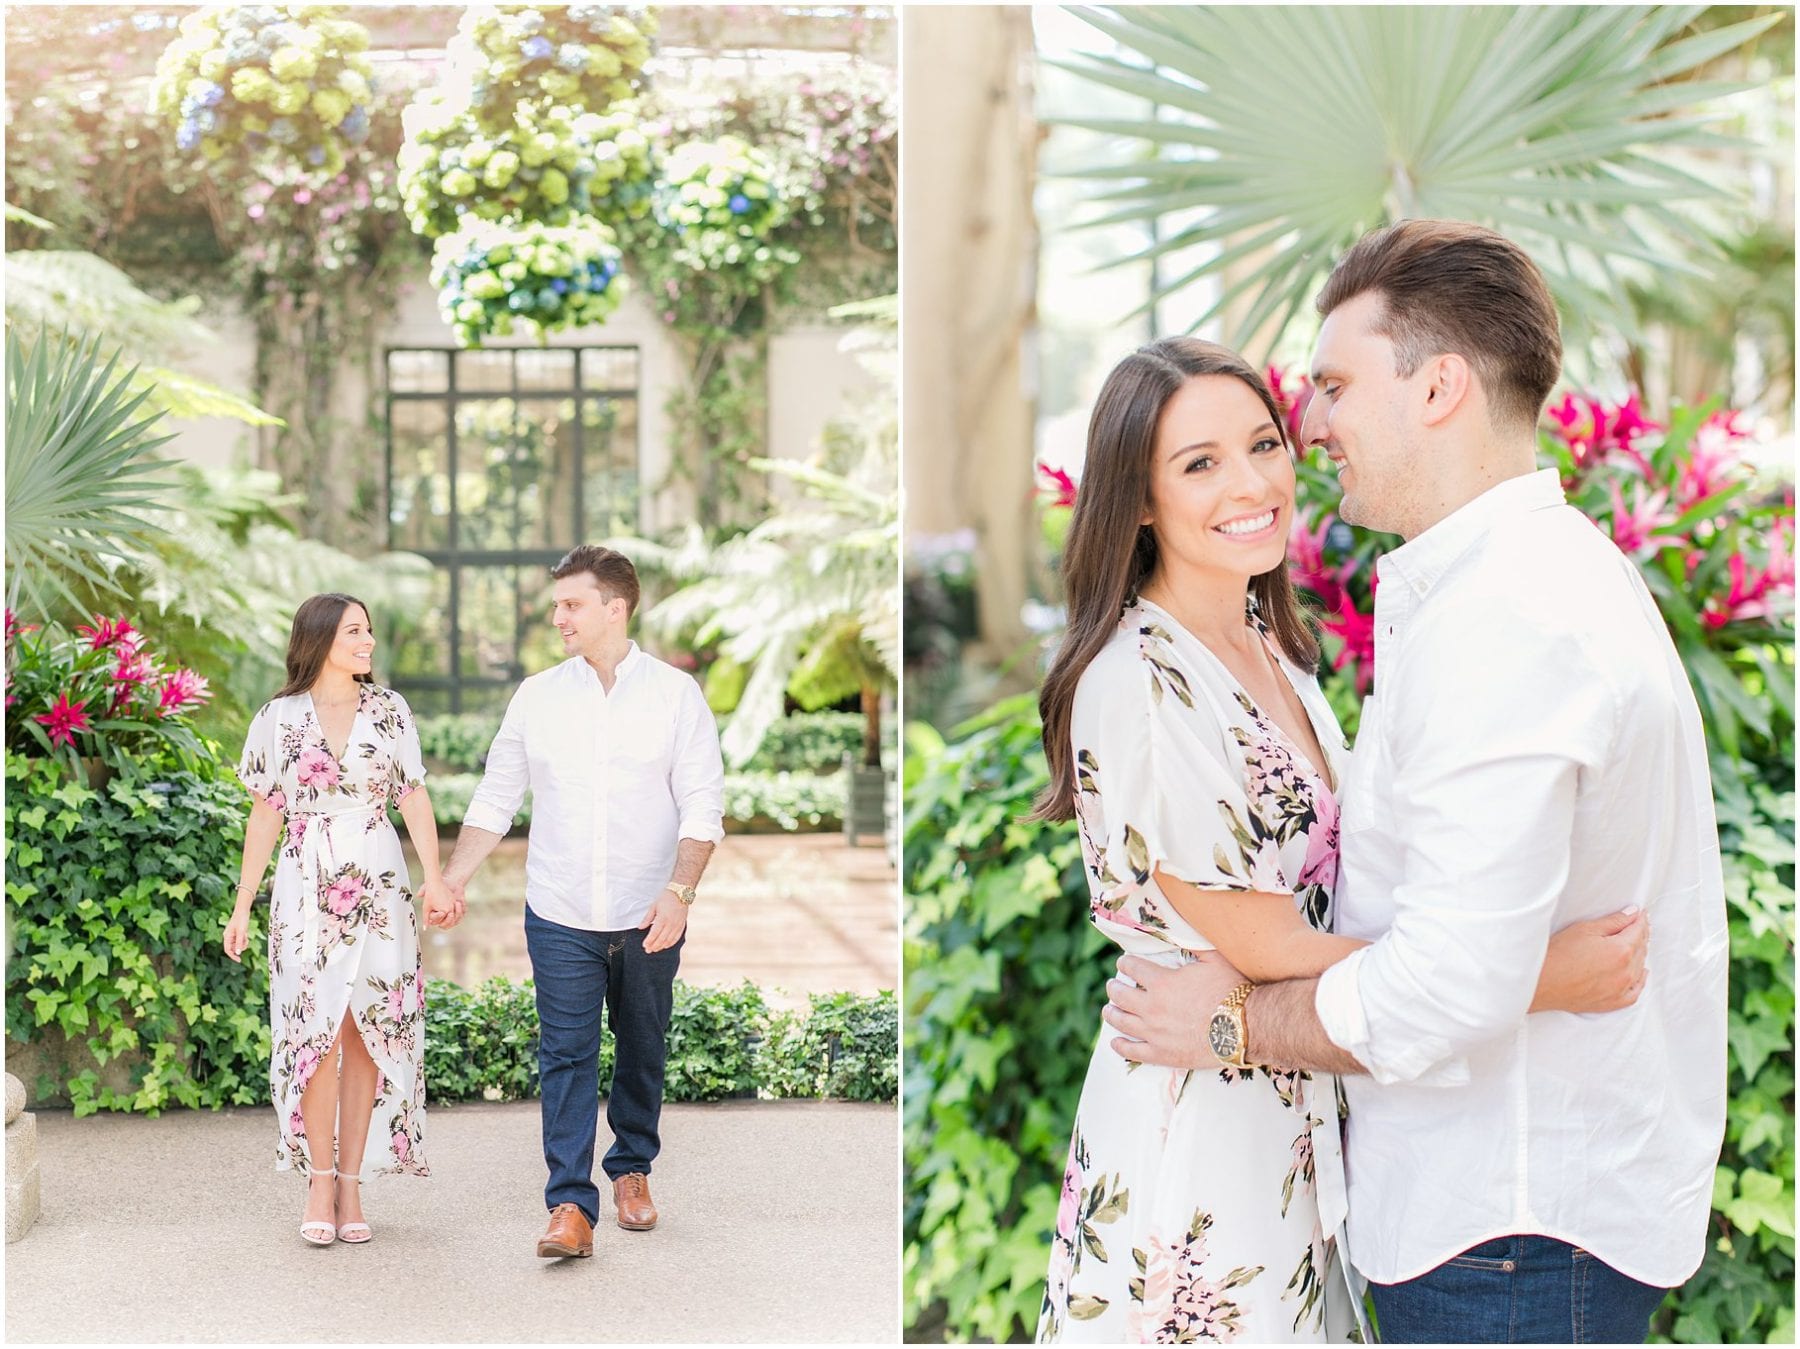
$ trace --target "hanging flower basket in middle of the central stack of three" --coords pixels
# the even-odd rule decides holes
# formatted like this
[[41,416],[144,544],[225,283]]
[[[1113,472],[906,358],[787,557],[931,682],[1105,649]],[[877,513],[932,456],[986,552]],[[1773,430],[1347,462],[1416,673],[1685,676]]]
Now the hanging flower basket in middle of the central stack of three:
[[428,97],[409,110],[400,175],[407,220],[427,238],[466,220],[616,223],[650,211],[650,140],[635,103],[603,113],[522,106],[511,126],[484,131],[466,106]]

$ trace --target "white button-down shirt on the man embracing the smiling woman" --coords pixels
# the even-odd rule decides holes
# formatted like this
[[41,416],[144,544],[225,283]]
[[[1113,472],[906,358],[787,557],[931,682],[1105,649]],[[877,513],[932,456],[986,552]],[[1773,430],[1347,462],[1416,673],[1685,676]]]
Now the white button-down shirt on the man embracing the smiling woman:
[[[1681,661],[1633,564],[1553,472],[1379,562],[1377,695],[1319,980],[1346,1077],[1350,1255],[1377,1282],[1541,1234],[1647,1284],[1701,1263],[1724,1136],[1726,922]],[[1550,933],[1651,917],[1649,983],[1526,1016]]]

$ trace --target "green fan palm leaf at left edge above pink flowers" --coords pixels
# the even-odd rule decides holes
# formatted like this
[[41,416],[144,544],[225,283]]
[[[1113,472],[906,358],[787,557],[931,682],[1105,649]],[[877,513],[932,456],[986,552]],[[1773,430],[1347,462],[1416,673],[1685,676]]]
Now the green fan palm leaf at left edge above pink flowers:
[[5,335],[5,562],[7,607],[47,614],[77,603],[70,580],[117,591],[108,560],[148,546],[171,481],[151,452],[162,412],[142,416],[148,394],[119,378],[119,353],[101,360],[99,339]]

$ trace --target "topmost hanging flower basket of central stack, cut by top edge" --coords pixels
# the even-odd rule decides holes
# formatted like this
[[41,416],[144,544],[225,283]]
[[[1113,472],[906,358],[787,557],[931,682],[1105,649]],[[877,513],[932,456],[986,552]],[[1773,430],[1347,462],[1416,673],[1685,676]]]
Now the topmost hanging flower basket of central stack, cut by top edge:
[[446,56],[470,79],[477,121],[499,131],[520,104],[605,112],[632,97],[655,34],[644,5],[472,5]]

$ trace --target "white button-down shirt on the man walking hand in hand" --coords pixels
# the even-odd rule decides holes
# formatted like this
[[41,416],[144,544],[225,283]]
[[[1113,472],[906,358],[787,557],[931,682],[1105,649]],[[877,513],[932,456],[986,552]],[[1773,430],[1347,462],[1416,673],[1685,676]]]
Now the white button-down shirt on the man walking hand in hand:
[[725,837],[713,711],[693,675],[635,641],[610,693],[580,656],[518,686],[463,823],[504,834],[527,787],[526,902],[565,928],[635,928],[679,839]]

